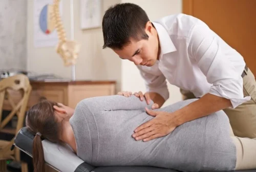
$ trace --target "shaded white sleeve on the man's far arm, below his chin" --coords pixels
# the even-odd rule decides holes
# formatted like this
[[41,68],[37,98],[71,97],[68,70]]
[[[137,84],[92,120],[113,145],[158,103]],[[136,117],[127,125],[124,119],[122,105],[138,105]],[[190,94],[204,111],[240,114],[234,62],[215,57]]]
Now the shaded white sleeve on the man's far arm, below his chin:
[[166,101],[169,98],[166,78],[163,74],[153,75],[138,67],[142,78],[145,80],[146,92],[158,93]]

